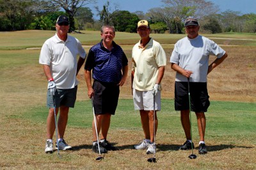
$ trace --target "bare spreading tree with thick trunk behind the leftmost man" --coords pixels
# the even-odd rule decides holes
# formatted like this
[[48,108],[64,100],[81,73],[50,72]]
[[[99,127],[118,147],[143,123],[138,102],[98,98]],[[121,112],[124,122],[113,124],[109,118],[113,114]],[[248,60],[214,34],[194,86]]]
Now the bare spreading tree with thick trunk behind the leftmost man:
[[70,24],[70,32],[75,30],[74,16],[79,8],[86,4],[95,3],[96,0],[42,0],[55,8],[63,8],[67,13]]

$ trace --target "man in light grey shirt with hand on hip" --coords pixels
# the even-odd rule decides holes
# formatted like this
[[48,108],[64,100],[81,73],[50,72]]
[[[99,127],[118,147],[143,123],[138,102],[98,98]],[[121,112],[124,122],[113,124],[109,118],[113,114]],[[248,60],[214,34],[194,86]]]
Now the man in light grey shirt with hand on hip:
[[[180,110],[182,127],[187,141],[180,150],[189,150],[193,146],[191,142],[189,121],[189,96],[188,83],[191,94],[191,111],[195,111],[198,131],[200,135],[199,154],[207,153],[204,136],[206,119],[204,112],[210,105],[207,92],[207,74],[221,64],[228,56],[214,41],[200,36],[200,26],[195,18],[187,18],[185,30],[188,36],[180,39],[174,46],[170,62],[172,69],[177,71],[175,79],[175,110]],[[209,55],[217,57],[209,65]]]

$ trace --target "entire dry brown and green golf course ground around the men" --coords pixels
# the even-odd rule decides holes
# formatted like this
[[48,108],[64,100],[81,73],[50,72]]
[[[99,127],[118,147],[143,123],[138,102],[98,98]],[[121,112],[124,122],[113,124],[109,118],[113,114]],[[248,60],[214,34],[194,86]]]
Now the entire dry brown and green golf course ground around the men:
[[[83,43],[88,53],[90,46],[100,41],[100,32],[83,33],[71,35]],[[115,41],[129,59],[129,77],[120,89],[108,136],[120,150],[105,154],[100,162],[95,160],[99,155],[92,152],[93,113],[82,67],[77,76],[77,103],[70,109],[65,132],[65,139],[74,149],[61,151],[62,159],[56,152],[44,153],[47,81],[38,57],[40,47],[53,34],[54,31],[0,32],[4,39],[0,42],[0,169],[256,169],[255,34],[204,35],[219,43],[228,58],[208,76],[211,105],[205,114],[206,155],[198,154],[198,130],[192,113],[195,160],[188,158],[191,151],[177,150],[186,139],[180,115],[174,110],[175,72],[168,63],[162,82],[163,109],[157,113],[156,164],[147,162],[152,155],[145,150],[133,149],[143,139],[140,115],[133,108],[130,76],[131,49],[139,36],[125,32],[116,32]],[[151,36],[163,44],[169,61],[173,44],[185,35]]]

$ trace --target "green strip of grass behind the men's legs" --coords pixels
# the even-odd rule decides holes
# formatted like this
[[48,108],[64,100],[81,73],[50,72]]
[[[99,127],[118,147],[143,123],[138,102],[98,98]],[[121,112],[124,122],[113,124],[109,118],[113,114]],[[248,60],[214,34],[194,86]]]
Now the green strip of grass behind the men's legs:
[[[245,109],[246,108],[246,109]],[[207,136],[255,136],[255,103],[234,103],[211,101],[206,114]],[[33,108],[26,113],[26,118],[36,122],[45,122],[47,108],[41,106]],[[162,111],[157,113],[159,119],[159,132],[183,133],[180,124],[180,114],[174,110],[173,100],[162,100]],[[191,112],[193,132],[197,136],[195,113]],[[70,109],[68,126],[92,127],[93,112],[90,101],[80,101],[76,107]],[[120,99],[116,115],[111,117],[111,129],[141,130],[140,114],[134,111],[132,99]]]

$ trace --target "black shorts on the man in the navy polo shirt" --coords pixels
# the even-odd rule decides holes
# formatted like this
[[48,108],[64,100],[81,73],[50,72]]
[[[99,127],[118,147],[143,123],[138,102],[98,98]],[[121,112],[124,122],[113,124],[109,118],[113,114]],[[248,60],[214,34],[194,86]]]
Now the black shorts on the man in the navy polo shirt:
[[115,115],[119,97],[119,85],[117,83],[93,82],[93,106],[96,115],[110,113]]

